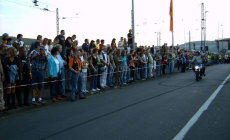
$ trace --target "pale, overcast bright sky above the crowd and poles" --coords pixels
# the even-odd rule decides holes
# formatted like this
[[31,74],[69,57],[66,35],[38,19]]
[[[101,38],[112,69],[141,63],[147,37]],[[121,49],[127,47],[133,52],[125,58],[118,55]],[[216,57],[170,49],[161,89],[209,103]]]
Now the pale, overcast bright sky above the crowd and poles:
[[[66,37],[77,35],[80,45],[85,38],[105,39],[110,44],[113,38],[127,37],[131,29],[131,0],[0,0],[0,35],[18,33],[25,38],[38,34],[53,39],[56,34],[56,8],[59,9],[59,29]],[[230,38],[229,0],[173,0],[174,44],[183,44],[201,39],[201,3],[207,11],[207,40]],[[134,0],[135,39],[138,45],[172,43],[169,31],[170,0]],[[41,10],[47,8],[50,11]],[[223,36],[222,36],[223,35]]]

